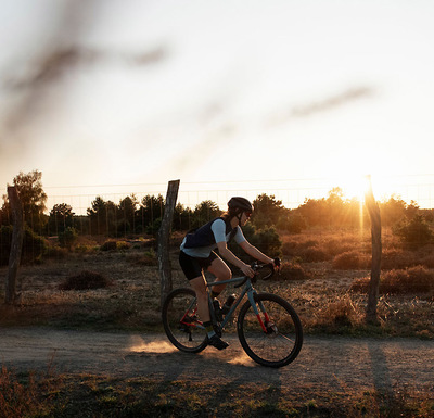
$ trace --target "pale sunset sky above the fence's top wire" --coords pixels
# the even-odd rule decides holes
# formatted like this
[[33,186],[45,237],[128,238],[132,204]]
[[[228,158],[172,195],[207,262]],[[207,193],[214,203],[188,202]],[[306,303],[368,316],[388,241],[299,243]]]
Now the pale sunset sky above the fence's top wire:
[[0,4],[1,193],[434,179],[431,0]]

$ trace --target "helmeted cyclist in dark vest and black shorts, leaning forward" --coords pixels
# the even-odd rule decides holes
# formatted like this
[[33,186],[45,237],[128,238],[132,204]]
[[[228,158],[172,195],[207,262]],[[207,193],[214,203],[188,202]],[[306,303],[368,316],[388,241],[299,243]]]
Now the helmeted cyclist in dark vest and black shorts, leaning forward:
[[[216,276],[216,281],[229,280],[232,273],[228,265],[215,253],[233,264],[248,277],[254,276],[251,266],[238,258],[227,246],[233,238],[235,242],[255,259],[278,266],[275,261],[256,246],[252,245],[244,237],[241,227],[250,219],[253,212],[252,203],[244,198],[234,197],[228,202],[228,211],[220,217],[205,224],[194,232],[189,232],[180,246],[179,263],[197,297],[197,313],[202,319],[208,338],[208,344],[218,350],[226,349],[229,344],[221,340],[213,329],[210,321],[208,296],[205,286],[204,270]],[[212,297],[217,297],[226,284],[216,284],[212,289]]]

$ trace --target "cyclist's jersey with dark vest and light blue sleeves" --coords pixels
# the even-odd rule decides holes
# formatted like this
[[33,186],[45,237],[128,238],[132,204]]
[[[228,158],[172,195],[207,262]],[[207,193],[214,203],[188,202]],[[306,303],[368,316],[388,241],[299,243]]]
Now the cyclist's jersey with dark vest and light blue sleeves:
[[188,233],[180,249],[191,257],[206,258],[217,248],[218,242],[229,242],[232,238],[238,244],[245,241],[239,226],[231,228],[230,224],[227,224],[224,218],[216,218],[196,231]]

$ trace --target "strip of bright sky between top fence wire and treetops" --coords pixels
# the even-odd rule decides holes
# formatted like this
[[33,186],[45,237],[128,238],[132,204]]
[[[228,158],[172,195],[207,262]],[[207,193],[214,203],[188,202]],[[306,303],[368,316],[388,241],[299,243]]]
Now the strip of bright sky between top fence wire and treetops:
[[[243,195],[254,200],[261,193],[275,195],[286,208],[296,208],[306,199],[327,198],[333,188],[341,188],[347,199],[362,199],[365,192],[362,177],[345,180],[336,178],[301,178],[252,181],[203,181],[180,182],[178,202],[194,208],[203,201],[213,201],[221,210],[232,195]],[[414,201],[421,208],[434,207],[434,175],[390,176],[372,178],[376,200],[387,200],[395,195],[407,203]],[[66,203],[76,215],[86,215],[97,197],[118,203],[127,195],[136,195],[141,201],[145,195],[165,198],[167,183],[100,185],[73,187],[46,187],[47,207]],[[3,194],[5,191],[3,192]]]

